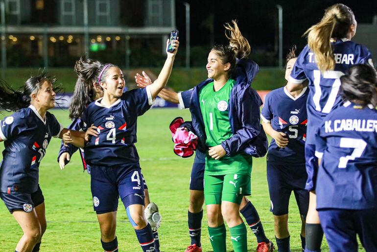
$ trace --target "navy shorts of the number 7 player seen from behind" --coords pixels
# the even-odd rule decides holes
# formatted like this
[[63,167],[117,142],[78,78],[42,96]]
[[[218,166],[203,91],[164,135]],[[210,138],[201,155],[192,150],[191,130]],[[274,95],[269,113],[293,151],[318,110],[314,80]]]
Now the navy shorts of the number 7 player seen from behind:
[[318,214],[331,252],[359,251],[356,234],[365,251],[377,251],[377,208],[319,209]]

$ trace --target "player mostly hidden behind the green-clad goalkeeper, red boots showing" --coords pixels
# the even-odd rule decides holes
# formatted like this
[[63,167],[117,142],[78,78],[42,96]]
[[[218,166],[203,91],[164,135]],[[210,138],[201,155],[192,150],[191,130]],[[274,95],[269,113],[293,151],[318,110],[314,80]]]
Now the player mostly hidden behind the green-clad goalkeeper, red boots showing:
[[[236,64],[236,71],[233,74],[237,82],[246,81],[251,83],[253,78],[258,73],[258,65],[248,60],[246,57],[250,53],[250,45],[246,38],[244,38],[238,28],[235,21],[232,22],[233,26],[226,24],[225,28],[229,31],[226,33],[227,38],[230,41],[230,45],[233,45],[233,50],[236,51],[236,57],[238,57]],[[137,74],[135,76],[136,82],[140,87],[144,87],[151,83],[150,78],[143,72],[143,76]],[[159,96],[166,101],[180,104],[181,108],[189,108],[193,106],[190,103],[193,90],[184,91],[177,94],[174,91],[163,89]],[[205,170],[205,151],[196,150],[195,159],[191,170],[190,176],[190,204],[188,207],[188,228],[191,237],[191,245],[188,246],[186,252],[201,252],[200,234],[201,234],[201,221],[203,217],[203,203],[204,203],[204,170]],[[239,206],[240,212],[245,217],[246,222],[252,229],[253,233],[257,237],[258,252],[273,251],[274,246],[271,241],[267,239],[264,234],[263,226],[260,221],[257,210],[254,205],[249,202],[245,197],[242,197],[242,202]]]

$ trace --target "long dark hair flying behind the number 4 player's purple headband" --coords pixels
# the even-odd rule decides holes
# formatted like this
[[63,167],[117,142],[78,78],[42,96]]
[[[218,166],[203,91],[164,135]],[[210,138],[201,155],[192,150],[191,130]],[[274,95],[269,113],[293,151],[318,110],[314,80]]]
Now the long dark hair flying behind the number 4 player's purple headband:
[[[70,105],[71,119],[80,118],[86,105],[94,101],[96,95],[94,85],[99,87],[99,81],[102,82],[106,78],[109,68],[114,66],[116,65],[103,65],[98,60],[87,59],[85,56],[81,56],[76,61],[74,72],[77,74],[77,80]],[[98,77],[100,77],[99,81]]]

